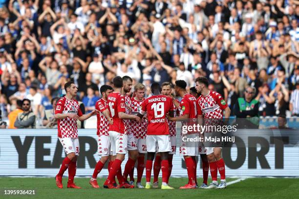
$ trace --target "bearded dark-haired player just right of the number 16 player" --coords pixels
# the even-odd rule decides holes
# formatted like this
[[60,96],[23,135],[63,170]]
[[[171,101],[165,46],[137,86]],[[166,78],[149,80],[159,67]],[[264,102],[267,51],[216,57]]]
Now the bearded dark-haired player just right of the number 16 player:
[[[132,89],[133,80],[128,76],[124,76],[123,82],[124,82],[124,86],[123,86],[123,90],[122,90],[122,95],[125,97],[126,113],[128,115],[131,115],[132,102],[131,102],[130,97],[128,96],[128,93]],[[130,182],[128,182],[128,181],[127,182],[130,185],[134,186],[134,176],[133,176],[134,173],[132,173],[132,172],[134,172],[135,162],[138,157],[138,150],[137,150],[137,145],[136,145],[134,135],[132,132],[132,128],[130,126],[130,120],[124,119],[124,122],[125,122],[125,127],[127,129],[127,135],[128,135],[128,147],[127,147],[128,161],[125,166],[125,171],[124,171],[123,177],[127,181],[128,175],[130,174]]]

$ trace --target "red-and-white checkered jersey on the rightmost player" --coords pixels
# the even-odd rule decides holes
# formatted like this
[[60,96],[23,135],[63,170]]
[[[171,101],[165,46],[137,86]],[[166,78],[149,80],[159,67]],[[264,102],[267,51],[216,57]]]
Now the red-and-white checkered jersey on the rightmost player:
[[225,100],[215,91],[210,91],[205,97],[199,96],[196,104],[198,115],[203,115],[205,119],[222,119],[222,110],[227,107]]

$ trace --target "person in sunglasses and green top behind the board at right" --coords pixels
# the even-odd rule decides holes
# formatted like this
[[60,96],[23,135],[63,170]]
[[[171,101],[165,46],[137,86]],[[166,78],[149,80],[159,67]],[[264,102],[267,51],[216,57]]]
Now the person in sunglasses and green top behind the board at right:
[[245,128],[258,128],[259,102],[253,98],[255,94],[255,87],[247,87],[244,92],[244,98],[238,98],[235,103],[235,116],[236,118],[246,118],[246,121],[238,120],[239,125],[241,124]]

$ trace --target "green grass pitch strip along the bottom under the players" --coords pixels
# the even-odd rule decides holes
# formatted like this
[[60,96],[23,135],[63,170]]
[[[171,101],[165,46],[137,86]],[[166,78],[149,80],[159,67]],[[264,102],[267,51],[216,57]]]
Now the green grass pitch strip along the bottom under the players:
[[[226,189],[180,190],[187,178],[171,178],[174,190],[161,189],[104,189],[105,179],[98,179],[100,189],[89,185],[89,178],[75,178],[82,189],[58,189],[54,178],[0,178],[0,199],[298,199],[299,179],[294,178],[250,178],[228,185]],[[227,179],[233,181],[235,179]],[[202,179],[198,179],[199,184]],[[144,184],[144,179],[142,184]],[[159,181],[161,185],[161,179]],[[35,190],[35,195],[4,195],[4,190]]]

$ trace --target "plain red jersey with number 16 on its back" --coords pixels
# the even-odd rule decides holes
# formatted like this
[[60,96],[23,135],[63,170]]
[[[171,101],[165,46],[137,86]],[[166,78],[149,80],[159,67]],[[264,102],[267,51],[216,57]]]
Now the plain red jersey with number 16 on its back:
[[125,97],[120,93],[110,93],[108,95],[107,107],[110,112],[110,117],[113,119],[113,124],[109,125],[108,131],[127,134],[124,120],[118,117],[119,112],[126,112]]

